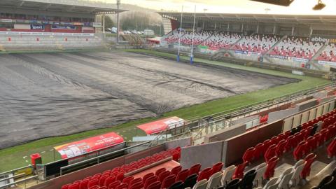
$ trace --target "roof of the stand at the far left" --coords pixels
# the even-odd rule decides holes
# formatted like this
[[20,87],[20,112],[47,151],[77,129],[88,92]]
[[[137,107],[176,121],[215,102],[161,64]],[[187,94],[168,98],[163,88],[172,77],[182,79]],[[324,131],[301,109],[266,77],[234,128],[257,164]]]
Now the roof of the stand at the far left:
[[[78,4],[80,2],[78,1]],[[118,10],[116,8],[107,8],[94,6],[78,6],[73,3],[67,3],[64,0],[43,1],[43,0],[0,0],[0,7],[4,8],[23,8],[29,10],[49,10],[60,12],[90,13],[90,14],[114,14],[127,10]]]

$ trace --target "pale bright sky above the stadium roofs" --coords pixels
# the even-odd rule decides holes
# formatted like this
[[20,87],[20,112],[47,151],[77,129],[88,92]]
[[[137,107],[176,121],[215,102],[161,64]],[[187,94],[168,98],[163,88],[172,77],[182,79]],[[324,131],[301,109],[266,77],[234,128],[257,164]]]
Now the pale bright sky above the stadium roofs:
[[[116,0],[102,0],[116,3]],[[336,0],[322,0],[327,6],[323,10],[312,10],[317,0],[295,0],[290,7],[274,6],[249,0],[121,0],[121,3],[134,4],[155,10],[174,10],[181,12],[203,13],[269,13],[269,14],[303,14],[336,15]],[[206,10],[204,10],[206,9]],[[265,10],[269,9],[269,10]]]

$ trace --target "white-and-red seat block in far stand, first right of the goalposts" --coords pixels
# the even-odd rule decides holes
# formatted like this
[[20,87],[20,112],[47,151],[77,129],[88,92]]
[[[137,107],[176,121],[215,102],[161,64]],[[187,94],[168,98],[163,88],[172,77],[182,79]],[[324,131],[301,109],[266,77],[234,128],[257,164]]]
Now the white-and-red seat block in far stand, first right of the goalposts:
[[202,45],[207,45],[210,48],[224,48],[229,49],[241,38],[241,34],[230,33],[223,31],[216,31],[214,35],[210,36]]

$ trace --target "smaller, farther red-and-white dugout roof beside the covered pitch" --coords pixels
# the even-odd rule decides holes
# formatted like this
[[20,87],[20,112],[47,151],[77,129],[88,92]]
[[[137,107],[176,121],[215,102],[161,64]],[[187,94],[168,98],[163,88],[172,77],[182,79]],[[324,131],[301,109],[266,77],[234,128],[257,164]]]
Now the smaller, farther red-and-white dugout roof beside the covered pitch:
[[179,117],[165,118],[162,120],[157,120],[151,123],[145,123],[143,125],[138,125],[137,127],[140,130],[146,132],[146,134],[155,134],[158,132],[162,132],[164,130],[181,127],[184,124],[184,120]]

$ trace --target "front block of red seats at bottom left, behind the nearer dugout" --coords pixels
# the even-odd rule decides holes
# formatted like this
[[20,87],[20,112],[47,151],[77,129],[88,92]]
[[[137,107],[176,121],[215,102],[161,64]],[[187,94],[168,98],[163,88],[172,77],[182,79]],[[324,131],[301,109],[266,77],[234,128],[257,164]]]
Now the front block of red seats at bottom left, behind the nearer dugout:
[[[134,172],[137,169],[141,169],[169,157],[172,157],[172,159],[175,161],[179,161],[179,159],[181,158],[181,148],[178,147],[174,149],[169,149],[168,151],[162,151],[161,153],[157,153],[146,158],[141,158],[137,161],[131,162],[130,164],[125,164],[120,167],[106,170],[103,173],[94,174],[93,176],[87,176],[83,180],[74,181],[73,183],[62,186],[62,189],[111,189],[117,187],[119,187],[118,189],[123,189],[122,187],[125,186],[125,184],[122,181],[125,179],[125,174]],[[120,183],[117,185],[118,181]],[[132,183],[127,183],[128,188],[137,188],[139,179],[134,179]]]

